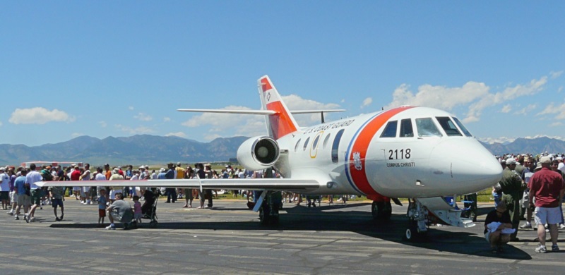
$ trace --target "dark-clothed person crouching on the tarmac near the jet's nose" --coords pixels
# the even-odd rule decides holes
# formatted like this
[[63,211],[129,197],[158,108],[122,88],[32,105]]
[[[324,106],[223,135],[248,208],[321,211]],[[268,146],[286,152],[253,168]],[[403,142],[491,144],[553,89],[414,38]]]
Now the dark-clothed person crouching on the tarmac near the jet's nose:
[[512,228],[512,221],[506,211],[506,202],[499,202],[484,219],[484,238],[490,243],[493,253],[502,252],[502,245],[510,241],[510,233],[503,232],[506,228]]

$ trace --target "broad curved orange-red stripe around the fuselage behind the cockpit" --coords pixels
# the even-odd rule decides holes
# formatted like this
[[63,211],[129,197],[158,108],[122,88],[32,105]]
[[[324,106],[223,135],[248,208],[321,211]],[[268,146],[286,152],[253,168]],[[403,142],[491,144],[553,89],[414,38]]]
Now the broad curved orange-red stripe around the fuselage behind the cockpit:
[[[408,110],[413,107],[399,107],[396,109],[391,109],[388,111],[383,112],[379,116],[373,118],[372,121],[367,123],[367,126],[361,130],[359,135],[357,135],[357,139],[353,144],[350,154],[349,154],[349,171],[351,175],[351,179],[355,186],[359,188],[365,194],[378,194],[376,190],[374,190],[371,185],[369,184],[369,179],[367,178],[367,173],[365,173],[365,158],[367,157],[367,148],[369,148],[369,144],[371,140],[373,140],[376,132],[386,123],[389,119],[391,119],[396,114],[400,113],[401,111]],[[355,163],[353,161],[353,154],[359,152],[359,157],[361,158],[361,170],[355,169]]]

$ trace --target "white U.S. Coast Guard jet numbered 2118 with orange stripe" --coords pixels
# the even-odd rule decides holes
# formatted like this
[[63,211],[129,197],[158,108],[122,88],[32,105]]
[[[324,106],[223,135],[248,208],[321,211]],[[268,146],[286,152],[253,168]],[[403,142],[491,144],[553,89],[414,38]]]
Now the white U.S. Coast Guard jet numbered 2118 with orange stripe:
[[[289,111],[267,75],[258,80],[258,92],[261,110],[178,111],[266,116],[269,135],[243,142],[237,160],[249,170],[274,167],[283,178],[147,180],[135,184],[263,190],[254,208],[262,224],[278,221],[280,200],[275,200],[273,193],[283,190],[312,195],[364,195],[373,200],[374,219],[391,216],[391,197],[408,197],[410,222],[404,237],[414,240],[427,232],[430,223],[474,226],[470,219],[461,218],[460,210],[453,209],[443,196],[475,193],[501,178],[499,162],[458,118],[446,111],[400,106],[302,128],[292,114],[321,113],[323,121],[324,112],[343,110]],[[131,182],[107,181],[105,185]]]

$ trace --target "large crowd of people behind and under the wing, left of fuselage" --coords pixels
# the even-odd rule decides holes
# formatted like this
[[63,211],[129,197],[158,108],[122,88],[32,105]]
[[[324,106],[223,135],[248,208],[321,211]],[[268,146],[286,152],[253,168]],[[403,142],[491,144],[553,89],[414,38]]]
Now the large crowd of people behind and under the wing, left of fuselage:
[[[167,164],[167,168],[163,167],[159,170],[150,171],[149,166],[142,165],[138,169],[133,166],[110,167],[109,164],[90,168],[90,164],[83,167],[72,164],[68,167],[61,166],[42,166],[36,167],[30,164],[29,167],[0,167],[0,200],[3,209],[9,209],[9,215],[14,219],[24,219],[30,223],[36,221],[35,210],[39,207],[42,209],[45,205],[51,205],[54,211],[55,221],[64,219],[64,200],[68,196],[80,201],[81,204],[97,204],[98,206],[98,224],[104,226],[105,217],[109,213],[108,219],[110,225],[107,229],[114,229],[114,220],[131,219],[141,222],[141,217],[151,205],[144,204],[141,206],[140,200],[154,201],[155,195],[165,195],[167,200],[165,203],[174,203],[184,198],[184,206],[192,207],[194,198],[199,201],[196,209],[213,207],[213,192],[215,190],[198,190],[191,188],[150,188],[153,192],[147,192],[145,188],[135,186],[134,181],[146,179],[192,179],[192,178],[262,178],[263,171],[245,171],[244,169],[234,168],[226,165],[220,173],[212,169],[211,164],[198,163],[194,166],[182,167],[181,163],[174,165]],[[275,176],[278,174],[275,173]],[[129,180],[132,181],[130,186],[107,187],[103,182],[93,182],[92,184],[84,184],[83,181],[116,181]],[[38,181],[69,181],[67,187],[49,187],[40,188],[35,183]],[[81,184],[73,184],[81,181]],[[74,185],[74,186],[73,186]],[[234,196],[244,193],[248,201],[253,197],[251,192],[245,190],[232,191]],[[217,196],[216,192],[216,196]],[[129,207],[129,203],[124,203],[124,198],[130,198],[133,202],[133,209]],[[69,199],[68,198],[68,199]],[[205,204],[208,200],[208,204]],[[58,214],[60,209],[60,216]],[[132,214],[129,215],[129,211]],[[115,214],[115,215],[114,215]],[[124,216],[124,214],[126,216]]]

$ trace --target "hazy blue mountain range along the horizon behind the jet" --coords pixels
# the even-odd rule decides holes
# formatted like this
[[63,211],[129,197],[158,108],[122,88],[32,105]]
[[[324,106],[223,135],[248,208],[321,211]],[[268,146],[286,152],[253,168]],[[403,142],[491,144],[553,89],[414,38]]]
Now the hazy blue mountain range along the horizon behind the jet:
[[[109,164],[165,164],[230,161],[247,138],[216,138],[198,142],[175,136],[133,135],[104,139],[81,136],[66,142],[28,147],[0,145],[0,165],[25,161],[77,161],[93,166]],[[492,154],[565,152],[565,141],[554,138],[517,138],[513,142],[482,142]]]

